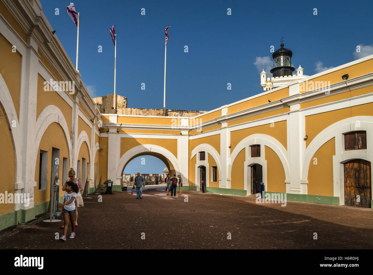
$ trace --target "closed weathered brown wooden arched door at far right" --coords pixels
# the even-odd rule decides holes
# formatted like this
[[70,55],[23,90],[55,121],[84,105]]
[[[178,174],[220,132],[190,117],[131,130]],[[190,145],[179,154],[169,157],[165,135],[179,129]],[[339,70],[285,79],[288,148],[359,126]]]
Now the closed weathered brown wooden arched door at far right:
[[345,205],[371,207],[371,164],[364,159],[344,163]]

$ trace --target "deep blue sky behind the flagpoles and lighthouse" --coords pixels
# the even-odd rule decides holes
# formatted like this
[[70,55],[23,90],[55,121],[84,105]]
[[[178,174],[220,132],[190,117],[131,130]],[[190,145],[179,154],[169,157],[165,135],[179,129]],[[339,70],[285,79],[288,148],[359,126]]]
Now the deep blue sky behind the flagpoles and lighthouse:
[[[66,11],[70,1],[40,2],[75,64],[76,26]],[[114,45],[109,30],[116,25],[116,91],[133,108],[163,109],[167,26],[171,26],[167,109],[209,111],[263,92],[259,73],[272,67],[270,46],[280,48],[282,36],[285,47],[293,51],[292,64],[301,65],[306,75],[373,54],[372,1],[76,0],[74,4],[80,13],[78,68],[85,85],[93,97],[113,93]],[[227,15],[228,8],[232,15]],[[360,53],[355,51],[357,45]],[[227,83],[232,90],[227,90]]]

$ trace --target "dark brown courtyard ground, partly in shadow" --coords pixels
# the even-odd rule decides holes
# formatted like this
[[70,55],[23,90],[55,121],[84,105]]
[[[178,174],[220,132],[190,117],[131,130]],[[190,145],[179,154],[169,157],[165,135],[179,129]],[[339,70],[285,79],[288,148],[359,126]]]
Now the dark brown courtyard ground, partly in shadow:
[[[147,186],[142,199],[128,192],[90,194],[79,207],[74,239],[56,240],[63,221],[48,214],[0,232],[2,249],[372,249],[370,208],[287,202],[257,204],[253,196],[197,191],[170,197]],[[102,195],[102,202],[98,196]],[[187,195],[187,202],[184,195]],[[71,227],[69,224],[68,236]],[[230,234],[229,234],[230,233]],[[314,239],[317,233],[317,239]],[[227,237],[231,235],[231,239]],[[67,237],[68,237],[67,236]],[[145,238],[144,238],[145,237]]]

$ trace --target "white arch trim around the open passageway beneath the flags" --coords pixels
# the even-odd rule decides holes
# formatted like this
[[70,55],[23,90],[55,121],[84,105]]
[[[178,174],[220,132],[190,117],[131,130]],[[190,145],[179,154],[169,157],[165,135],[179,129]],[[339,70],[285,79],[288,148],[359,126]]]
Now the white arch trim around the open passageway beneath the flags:
[[175,168],[176,174],[180,174],[178,160],[173,155],[173,153],[171,153],[169,150],[161,146],[157,146],[154,144],[144,144],[144,145],[139,145],[139,146],[129,149],[126,153],[123,154],[122,157],[120,157],[119,162],[118,162],[119,164],[118,164],[117,171],[116,171],[116,184],[121,185],[120,181],[121,181],[121,178],[123,177],[122,171],[126,163],[133,156],[141,154],[141,153],[147,153],[147,152],[154,152],[154,153],[159,153],[160,155],[163,155],[165,158],[167,158],[171,162],[171,164],[173,165],[173,168]]

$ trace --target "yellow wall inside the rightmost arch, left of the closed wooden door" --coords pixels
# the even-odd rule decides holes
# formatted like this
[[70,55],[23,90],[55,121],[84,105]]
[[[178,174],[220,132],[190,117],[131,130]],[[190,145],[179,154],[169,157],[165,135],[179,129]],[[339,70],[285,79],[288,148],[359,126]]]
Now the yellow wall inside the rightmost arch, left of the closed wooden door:
[[[310,167],[308,168],[307,194],[333,196],[334,155],[335,138],[324,143],[313,155],[310,161]],[[314,160],[314,158],[316,158],[316,160]]]

